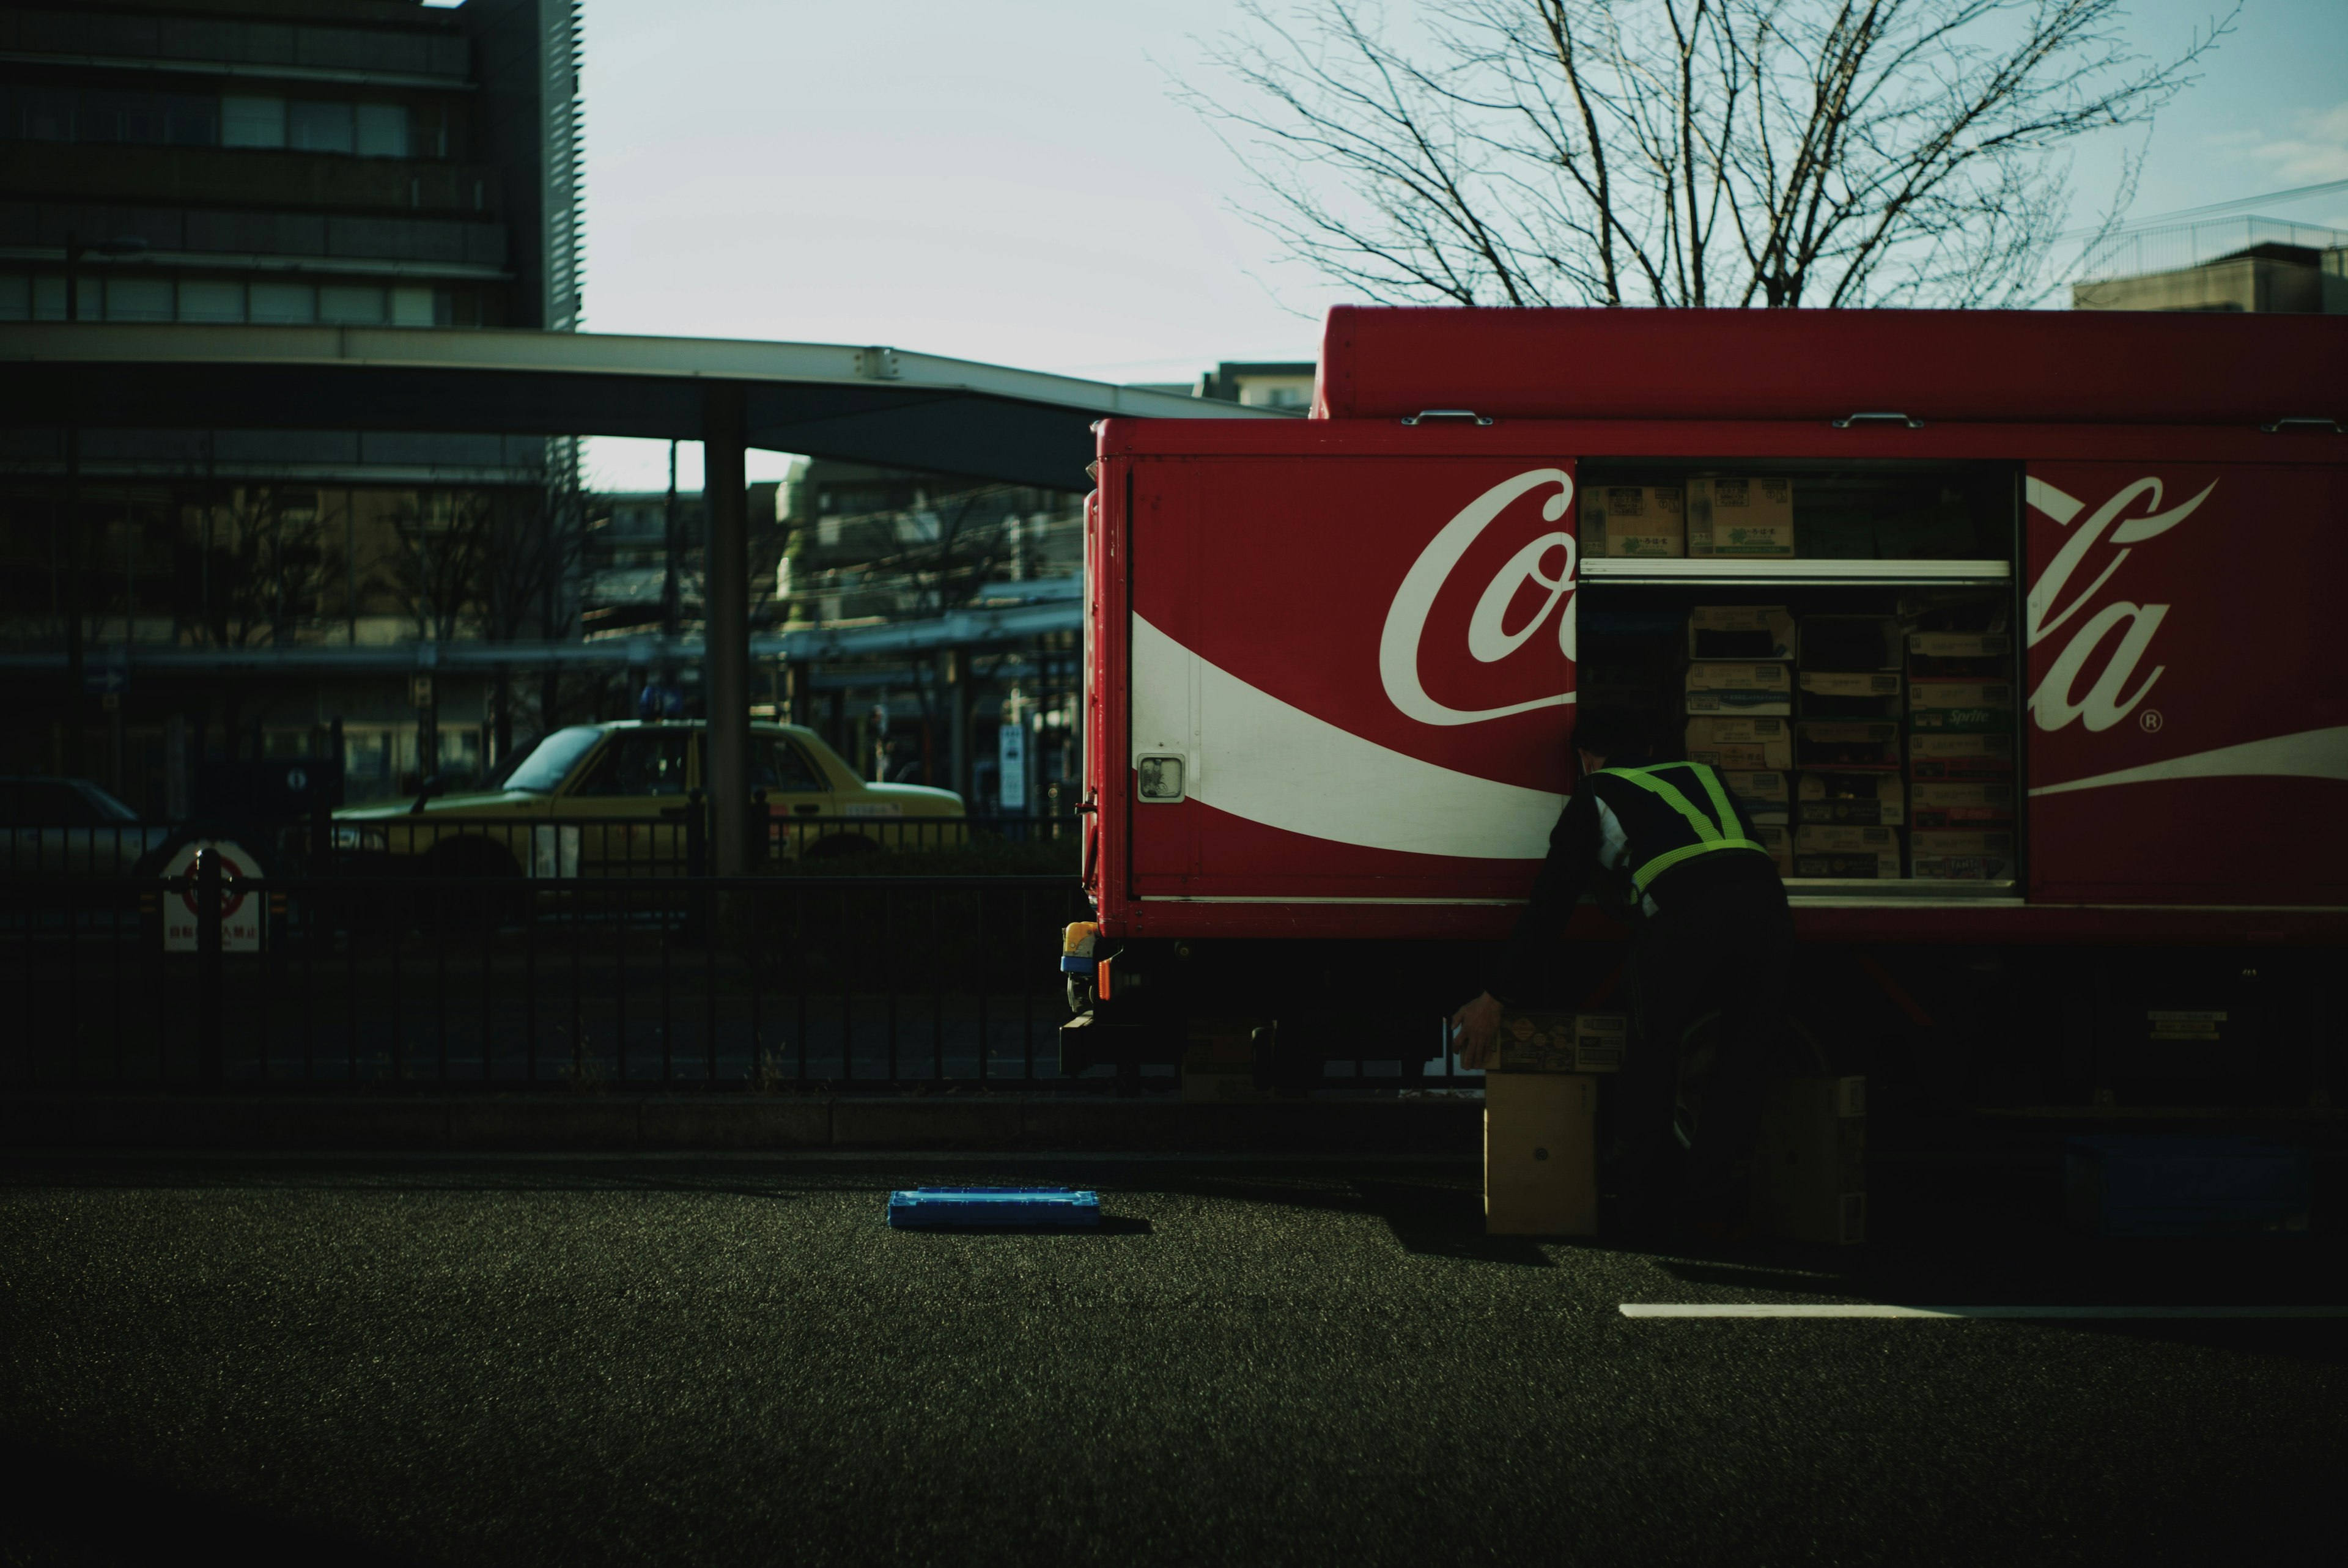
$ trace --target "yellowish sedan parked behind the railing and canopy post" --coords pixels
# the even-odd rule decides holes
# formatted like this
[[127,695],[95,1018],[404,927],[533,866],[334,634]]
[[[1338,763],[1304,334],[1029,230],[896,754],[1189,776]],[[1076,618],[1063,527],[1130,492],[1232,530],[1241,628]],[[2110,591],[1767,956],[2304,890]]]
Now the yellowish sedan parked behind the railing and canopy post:
[[[425,791],[333,815],[352,866],[441,876],[674,876],[709,772],[704,723],[587,723],[538,742],[498,789]],[[798,725],[751,725],[751,793],[777,859],[939,847],[963,838],[963,798],[866,784]]]

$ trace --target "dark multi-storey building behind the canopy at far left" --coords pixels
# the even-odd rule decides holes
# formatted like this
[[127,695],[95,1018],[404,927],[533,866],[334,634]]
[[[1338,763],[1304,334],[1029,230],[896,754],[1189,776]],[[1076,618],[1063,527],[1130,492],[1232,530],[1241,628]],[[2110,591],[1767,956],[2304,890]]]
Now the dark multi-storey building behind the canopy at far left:
[[[578,26],[578,0],[0,9],[0,322],[573,329]],[[103,662],[578,627],[573,441],[66,413],[0,432],[0,643],[77,636]],[[477,777],[517,702],[554,695],[141,678],[9,723],[0,770],[85,772],[160,812],[181,805],[171,746],[317,753],[340,718],[364,798]]]

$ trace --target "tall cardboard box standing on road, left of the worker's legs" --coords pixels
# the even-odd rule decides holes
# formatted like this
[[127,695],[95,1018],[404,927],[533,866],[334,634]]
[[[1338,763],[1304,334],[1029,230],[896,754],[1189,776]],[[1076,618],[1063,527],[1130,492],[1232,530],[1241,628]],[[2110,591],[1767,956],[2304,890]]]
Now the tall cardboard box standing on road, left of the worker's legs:
[[1484,1230],[1599,1230],[1599,1080],[1587,1073],[1484,1075]]

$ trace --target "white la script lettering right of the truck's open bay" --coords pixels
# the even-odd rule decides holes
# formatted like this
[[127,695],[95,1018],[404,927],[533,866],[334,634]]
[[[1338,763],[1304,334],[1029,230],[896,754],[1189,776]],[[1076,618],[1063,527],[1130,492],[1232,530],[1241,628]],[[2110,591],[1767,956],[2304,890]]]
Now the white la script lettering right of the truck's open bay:
[[[2062,549],[2054,552],[2054,559],[2031,582],[2026,606],[2029,646],[2036,648],[2071,622],[2078,622],[2071,629],[2071,641],[2062,646],[2062,653],[2047,664],[2045,678],[2031,692],[2031,718],[2040,730],[2062,730],[2071,721],[2083,721],[2087,730],[2109,730],[2151,695],[2153,683],[2160,681],[2167,664],[2153,664],[2141,676],[2137,671],[2151,653],[2153,636],[2160,631],[2170,606],[2111,599],[2085,615],[2085,620],[2080,620],[2080,613],[2094,603],[2104,584],[2127,563],[2130,547],[2160,538],[2193,516],[2214,488],[2217,481],[2212,479],[2191,500],[2160,512],[2160,479],[2137,479],[2090,512],[2085,521],[2078,521],[2087,512],[2087,502],[2057,491],[2043,479],[2033,477],[2029,481],[2031,505],[2064,528],[2071,528]],[[2146,507],[2144,516],[2123,516],[2139,502]],[[2106,533],[2111,535],[2109,540]],[[2104,552],[2104,570],[2087,587],[2071,594],[2071,580],[2085,573],[2090,556],[2097,552]],[[2097,662],[2099,655],[2101,662]],[[2158,723],[2146,728],[2158,728]]]

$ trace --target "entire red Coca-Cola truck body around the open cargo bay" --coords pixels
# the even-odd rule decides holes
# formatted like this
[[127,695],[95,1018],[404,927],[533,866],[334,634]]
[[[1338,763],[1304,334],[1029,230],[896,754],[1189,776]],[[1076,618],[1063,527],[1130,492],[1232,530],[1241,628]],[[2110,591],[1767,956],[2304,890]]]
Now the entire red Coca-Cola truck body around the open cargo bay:
[[[1500,937],[1594,617],[1972,594],[2017,653],[2017,871],[1796,878],[1806,939],[2336,944],[2341,425],[2332,317],[1336,310],[1315,418],[1099,430],[1101,934]],[[1989,542],[1585,549],[1585,486],[1695,469],[1963,486]]]

